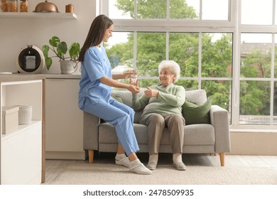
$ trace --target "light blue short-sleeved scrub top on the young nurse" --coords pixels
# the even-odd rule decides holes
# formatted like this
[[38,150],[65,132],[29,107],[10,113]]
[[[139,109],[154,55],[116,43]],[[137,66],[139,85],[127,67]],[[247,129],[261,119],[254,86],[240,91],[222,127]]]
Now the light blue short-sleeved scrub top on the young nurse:
[[106,50],[101,45],[101,50],[96,46],[87,49],[84,61],[81,63],[81,80],[79,91],[79,107],[82,109],[85,97],[89,97],[92,102],[109,102],[112,87],[102,84],[101,77],[112,78],[112,68],[106,54]]

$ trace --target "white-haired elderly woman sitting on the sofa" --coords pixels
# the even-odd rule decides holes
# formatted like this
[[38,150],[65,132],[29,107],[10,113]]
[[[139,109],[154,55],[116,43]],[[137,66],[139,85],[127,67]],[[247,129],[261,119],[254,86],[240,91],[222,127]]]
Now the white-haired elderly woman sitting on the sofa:
[[[133,106],[143,109],[139,123],[148,126],[149,161],[147,167],[155,170],[163,129],[170,131],[170,144],[173,151],[173,166],[183,171],[182,161],[185,119],[182,105],[185,102],[185,88],[174,83],[180,77],[180,66],[173,60],[163,60],[158,66],[160,84],[147,87],[141,97],[133,94]],[[138,80],[131,84],[138,85]]]

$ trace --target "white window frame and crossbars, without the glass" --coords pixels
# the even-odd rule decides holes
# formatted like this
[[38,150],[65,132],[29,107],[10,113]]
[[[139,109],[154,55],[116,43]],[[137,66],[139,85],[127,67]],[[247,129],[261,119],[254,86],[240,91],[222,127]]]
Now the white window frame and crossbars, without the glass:
[[[200,0],[202,1],[202,0]],[[273,0],[273,6],[275,5]],[[169,0],[168,0],[169,2]],[[99,13],[109,16],[109,1],[99,1]],[[169,3],[168,3],[169,5]],[[277,9],[277,6],[274,6]],[[168,14],[167,14],[168,15]],[[273,24],[275,23],[275,12],[273,11]],[[201,19],[114,19],[114,31],[116,32],[134,32],[134,60],[136,60],[136,33],[141,31],[147,32],[163,32],[166,33],[167,46],[166,58],[168,59],[168,34],[175,33],[232,33],[233,34],[233,55],[232,55],[232,77],[180,77],[180,80],[198,80],[198,88],[201,88],[202,80],[231,80],[232,81],[232,109],[231,124],[233,129],[276,129],[273,125],[273,84],[277,81],[274,78],[274,65],[271,66],[271,124],[266,125],[249,125],[239,124],[239,85],[242,80],[250,80],[249,78],[240,77],[240,43],[241,33],[271,33],[273,35],[273,43],[275,46],[274,35],[277,33],[276,25],[241,25],[241,1],[229,0],[229,20],[201,20]],[[201,39],[199,45],[201,46]],[[274,49],[274,48],[273,48]],[[274,53],[274,52],[273,52]],[[201,54],[200,54],[201,56]],[[274,54],[272,58],[274,58]],[[201,57],[200,57],[201,59]],[[201,63],[199,63],[201,65]],[[136,63],[134,63],[136,68]],[[199,66],[201,67],[201,66]],[[144,77],[145,79],[156,79],[156,77]],[[257,79],[255,79],[257,80]],[[263,78],[263,80],[265,80]]]

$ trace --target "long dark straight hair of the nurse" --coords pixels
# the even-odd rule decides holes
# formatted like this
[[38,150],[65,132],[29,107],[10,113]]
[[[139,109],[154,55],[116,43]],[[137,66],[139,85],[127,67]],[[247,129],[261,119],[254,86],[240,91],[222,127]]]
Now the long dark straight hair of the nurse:
[[88,48],[95,45],[100,45],[102,43],[105,31],[107,30],[107,28],[112,26],[112,24],[114,24],[114,22],[104,14],[101,14],[94,18],[94,20],[92,21],[92,25],[89,28],[89,33],[87,33],[85,43],[80,51],[80,62],[84,61],[85,52]]

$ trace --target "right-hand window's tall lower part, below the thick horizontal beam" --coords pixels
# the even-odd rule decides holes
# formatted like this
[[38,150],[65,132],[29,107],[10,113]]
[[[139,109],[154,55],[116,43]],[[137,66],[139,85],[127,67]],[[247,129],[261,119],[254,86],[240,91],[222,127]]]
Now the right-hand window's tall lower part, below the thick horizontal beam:
[[272,36],[241,33],[240,124],[270,124]]

